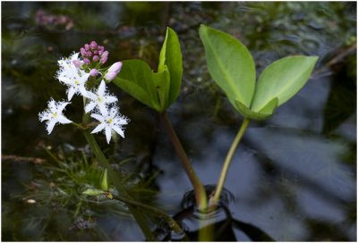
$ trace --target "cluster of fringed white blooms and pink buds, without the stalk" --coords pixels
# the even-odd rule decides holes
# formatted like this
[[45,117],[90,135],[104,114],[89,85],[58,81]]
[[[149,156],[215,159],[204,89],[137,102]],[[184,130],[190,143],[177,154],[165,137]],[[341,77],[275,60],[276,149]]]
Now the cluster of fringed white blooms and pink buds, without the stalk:
[[[81,56],[80,56],[81,53]],[[59,70],[55,78],[67,86],[68,102],[55,102],[53,98],[48,102],[48,108],[38,114],[40,121],[47,121],[47,132],[50,134],[56,123],[72,123],[63,114],[66,105],[71,104],[74,95],[81,95],[84,102],[84,113],[90,113],[90,117],[99,123],[91,133],[104,130],[109,144],[115,133],[124,138],[124,125],[129,119],[119,113],[116,96],[107,91],[106,81],[115,79],[121,71],[122,63],[117,62],[109,68],[101,68],[107,63],[108,51],[104,46],[98,46],[95,41],[81,47],[80,53],[73,53],[68,58],[58,61]]]

